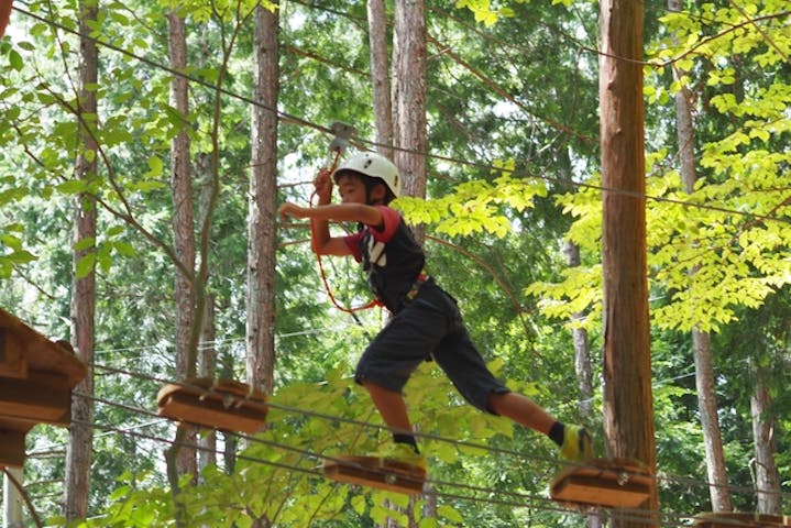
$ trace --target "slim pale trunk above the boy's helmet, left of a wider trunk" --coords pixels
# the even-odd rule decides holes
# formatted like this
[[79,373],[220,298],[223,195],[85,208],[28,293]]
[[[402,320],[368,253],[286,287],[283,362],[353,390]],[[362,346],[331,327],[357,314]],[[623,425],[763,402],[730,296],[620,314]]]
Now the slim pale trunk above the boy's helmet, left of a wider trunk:
[[387,61],[387,12],[384,0],[369,0],[367,13],[376,145],[380,154],[393,160],[393,102]]

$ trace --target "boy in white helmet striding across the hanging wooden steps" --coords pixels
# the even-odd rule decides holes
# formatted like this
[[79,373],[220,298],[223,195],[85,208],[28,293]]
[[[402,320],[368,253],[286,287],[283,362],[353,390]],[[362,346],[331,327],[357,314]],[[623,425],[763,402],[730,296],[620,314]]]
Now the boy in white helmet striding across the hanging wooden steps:
[[[331,204],[332,179],[341,204]],[[358,154],[334,175],[321,170],[314,185],[317,207],[286,202],[278,210],[281,218],[309,218],[316,253],[350,255],[361,262],[374,295],[393,314],[369,344],[354,375],[393,432],[394,443],[383,457],[426,468],[402,389],[411,372],[430,356],[473,406],[547,435],[563,459],[593,458],[585,429],[557,421],[529,398],[512,393],[487,370],[462,323],[455,299],[426,274],[422,248],[400,215],[387,206],[400,191],[393,163],[378,154]],[[330,220],[358,222],[360,230],[330,237]]]

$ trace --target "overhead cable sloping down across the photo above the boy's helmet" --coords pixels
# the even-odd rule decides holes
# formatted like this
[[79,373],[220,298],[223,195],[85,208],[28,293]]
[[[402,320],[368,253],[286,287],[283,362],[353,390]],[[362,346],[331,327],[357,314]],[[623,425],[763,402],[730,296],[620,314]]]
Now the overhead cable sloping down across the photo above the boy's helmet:
[[[51,25],[51,26],[53,26],[53,28],[57,28],[57,29],[59,29],[59,30],[62,30],[62,31],[65,31],[65,32],[67,32],[67,33],[70,33],[70,34],[74,34],[74,35],[77,35],[77,36],[90,38],[90,40],[95,41],[98,45],[101,45],[101,46],[103,46],[103,47],[107,47],[107,48],[109,48],[109,50],[112,50],[112,51],[114,51],[114,52],[117,52],[117,53],[120,53],[120,54],[122,54],[122,55],[125,55],[125,56],[128,56],[128,57],[130,57],[130,58],[134,58],[134,59],[136,59],[136,61],[139,61],[139,62],[141,62],[141,63],[143,63],[143,64],[146,64],[146,65],[149,65],[149,66],[151,66],[151,67],[153,67],[153,68],[155,68],[155,69],[161,69],[161,70],[166,72],[166,73],[168,73],[168,74],[171,74],[171,75],[173,75],[173,76],[183,77],[183,78],[185,78],[185,79],[187,79],[187,80],[189,80],[189,81],[191,81],[191,82],[196,82],[196,84],[198,84],[198,85],[200,85],[200,86],[204,86],[204,87],[206,87],[206,88],[210,88],[210,89],[216,90],[216,91],[218,91],[218,92],[220,92],[220,94],[222,94],[222,95],[224,95],[224,96],[231,97],[231,98],[233,98],[233,99],[237,99],[237,100],[239,100],[239,101],[245,102],[245,103],[248,103],[248,105],[255,106],[255,107],[262,108],[262,109],[264,109],[264,110],[270,110],[270,111],[272,111],[272,112],[275,112],[275,113],[278,116],[278,118],[279,118],[284,123],[297,124],[297,125],[300,125],[300,127],[306,127],[306,128],[315,129],[315,130],[317,130],[317,131],[319,131],[319,132],[322,132],[322,133],[326,133],[326,134],[331,134],[331,133],[332,133],[332,131],[331,131],[328,127],[323,127],[323,125],[320,125],[320,124],[318,124],[318,123],[312,123],[312,122],[310,122],[310,121],[308,121],[308,120],[306,120],[306,119],[299,118],[299,117],[297,117],[297,116],[289,114],[289,113],[283,112],[283,111],[281,111],[281,110],[277,110],[277,109],[274,109],[274,108],[270,108],[270,107],[267,107],[267,106],[265,106],[265,105],[263,105],[263,103],[261,103],[261,102],[259,102],[259,101],[253,100],[252,98],[250,98],[250,97],[248,97],[248,96],[242,96],[242,95],[237,94],[237,92],[233,92],[233,91],[231,91],[231,90],[229,90],[229,89],[227,89],[227,88],[211,85],[211,84],[209,84],[209,82],[206,81],[206,80],[199,79],[199,78],[197,78],[197,77],[195,77],[195,76],[185,74],[185,73],[183,73],[183,72],[177,72],[177,70],[171,68],[169,66],[166,66],[166,65],[163,65],[163,64],[157,63],[157,62],[155,62],[155,61],[152,61],[152,59],[142,57],[142,56],[140,56],[140,55],[136,55],[136,54],[134,54],[134,53],[132,53],[132,52],[129,52],[129,51],[127,51],[127,50],[123,50],[123,48],[121,48],[121,47],[119,47],[119,46],[116,46],[116,45],[113,45],[113,44],[110,44],[110,43],[100,41],[99,38],[96,38],[96,37],[92,37],[92,36],[89,36],[89,35],[83,35],[83,34],[80,34],[80,32],[77,31],[77,30],[73,30],[73,29],[66,28],[65,25],[63,25],[63,24],[61,24],[61,23],[58,23],[58,22],[47,20],[47,19],[45,19],[45,18],[43,18],[43,16],[40,16],[40,15],[37,15],[37,14],[34,14],[34,13],[32,13],[32,12],[30,12],[30,11],[26,11],[26,10],[24,10],[24,9],[21,9],[21,8],[17,7],[17,6],[14,6],[13,9],[17,10],[17,11],[19,11],[19,12],[21,12],[21,13],[23,13],[23,14],[25,14],[25,15],[28,15],[28,16],[30,16],[30,18],[32,18],[32,19],[34,19],[34,20],[37,20],[37,21],[40,21],[40,22],[42,22],[42,23],[45,23],[45,24],[48,24],[48,25]],[[380,144],[376,143],[376,142],[369,141],[369,140],[364,140],[364,139],[360,139],[360,138],[356,138],[355,141],[360,142],[361,144],[370,145],[370,146],[372,146],[372,147],[383,146],[383,145],[380,145]],[[466,161],[466,160],[454,158],[454,157],[451,157],[451,156],[443,156],[443,155],[432,154],[432,153],[428,153],[428,152],[418,152],[418,151],[416,151],[416,150],[403,148],[403,147],[397,147],[397,146],[394,146],[393,148],[394,148],[395,151],[399,151],[399,152],[407,152],[407,153],[411,153],[411,154],[419,154],[419,155],[425,156],[425,157],[427,157],[427,158],[432,158],[432,160],[437,160],[437,161],[443,161],[443,162],[446,162],[446,163],[450,163],[450,164],[457,165],[457,166],[458,166],[458,165],[461,165],[461,166],[468,166],[468,167],[472,167],[472,168],[477,168],[477,169],[481,169],[481,170],[490,170],[490,172],[491,172],[491,170],[497,170],[497,172],[503,172],[502,167],[495,167],[495,166],[493,166],[493,165],[491,165],[491,164],[485,164],[485,163],[480,163],[480,162],[470,162],[470,161]],[[748,218],[748,219],[751,219],[752,221],[760,220],[760,221],[778,221],[778,222],[782,222],[782,223],[791,223],[791,218],[773,217],[773,216],[768,216],[768,215],[755,213],[755,212],[750,212],[750,211],[741,211],[741,210],[738,210],[738,209],[728,209],[728,208],[726,208],[726,207],[715,206],[715,205],[711,205],[711,204],[700,204],[700,202],[695,202],[695,201],[686,201],[686,200],[681,200],[681,199],[675,199],[675,198],[667,198],[667,197],[660,197],[660,196],[650,196],[650,195],[642,194],[642,193],[629,191],[629,190],[619,189],[619,188],[604,187],[604,186],[601,186],[601,185],[592,185],[592,184],[585,184],[585,183],[579,183],[579,182],[570,182],[570,180],[564,179],[564,178],[546,176],[546,175],[532,175],[532,174],[529,174],[529,173],[526,172],[526,170],[509,170],[509,172],[507,170],[507,173],[508,173],[509,175],[512,175],[512,176],[515,176],[515,177],[541,179],[541,180],[545,180],[545,182],[548,182],[548,183],[557,184],[557,185],[559,185],[559,186],[561,186],[561,187],[575,187],[575,188],[581,188],[581,189],[597,190],[597,191],[602,191],[602,193],[611,193],[611,194],[627,196],[627,197],[637,198],[637,199],[646,199],[646,200],[652,200],[652,201],[658,201],[658,202],[673,204],[673,205],[682,206],[682,207],[684,207],[684,208],[703,209],[703,210],[710,210],[710,211],[714,211],[714,212],[723,212],[723,213],[727,213],[727,215],[741,216],[741,217],[746,217],[746,218]],[[759,190],[759,189],[756,189],[756,190]]]

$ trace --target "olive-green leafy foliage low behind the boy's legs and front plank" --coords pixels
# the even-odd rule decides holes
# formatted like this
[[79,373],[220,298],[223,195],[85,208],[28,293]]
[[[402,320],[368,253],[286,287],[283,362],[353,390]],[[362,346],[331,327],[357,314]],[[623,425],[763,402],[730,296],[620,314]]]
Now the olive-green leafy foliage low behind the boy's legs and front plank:
[[[186,505],[189,526],[243,527],[262,518],[277,526],[305,526],[306,519],[310,526],[330,526],[325,524],[344,518],[350,524],[406,519],[385,501],[419,512],[425,499],[409,505],[403,495],[352,488],[321,475],[318,468],[323,460],[348,451],[375,451],[387,441],[381,421],[372,420],[375,411],[367,397],[343,376],[347,371],[348,365],[327,373],[326,382],[294,382],[281,389],[271,400],[267,430],[244,438],[249,446],[239,453],[237,471],[229,475],[209,466],[201,484],[184,487],[179,501]],[[420,409],[417,422],[431,436],[424,450],[440,469],[481,457],[490,439],[512,437],[507,420],[452,403],[452,388],[433,371],[421,369],[410,382],[408,404]],[[128,472],[119,483],[100,518],[70,526],[169,526],[174,515],[169,492],[152,481],[151,473]],[[433,526],[453,526],[462,519],[452,502],[441,502],[438,513]],[[51,522],[64,525],[57,518]]]

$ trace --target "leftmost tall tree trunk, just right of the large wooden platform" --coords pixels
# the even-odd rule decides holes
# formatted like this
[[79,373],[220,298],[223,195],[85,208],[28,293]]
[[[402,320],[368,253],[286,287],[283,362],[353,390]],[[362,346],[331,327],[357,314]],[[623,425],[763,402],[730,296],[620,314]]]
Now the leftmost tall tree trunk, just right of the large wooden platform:
[[[98,6],[80,2],[80,34],[88,35],[92,22],[98,18]],[[75,178],[92,180],[96,178],[97,144],[91,133],[97,123],[96,90],[99,69],[99,52],[96,42],[87,36],[80,37],[79,68],[79,144],[83,148],[77,156]],[[85,240],[96,240],[96,200],[91,195],[80,194],[76,198],[74,220],[75,244]],[[72,398],[72,427],[66,448],[66,496],[64,515],[68,520],[86,517],[88,513],[88,492],[90,491],[91,446],[94,441],[94,349],[96,316],[96,272],[91,268],[87,275],[77,276],[77,263],[94,253],[96,248],[80,249],[74,252],[75,278],[72,294],[72,343],[77,356],[88,365],[88,375],[75,387]]]

